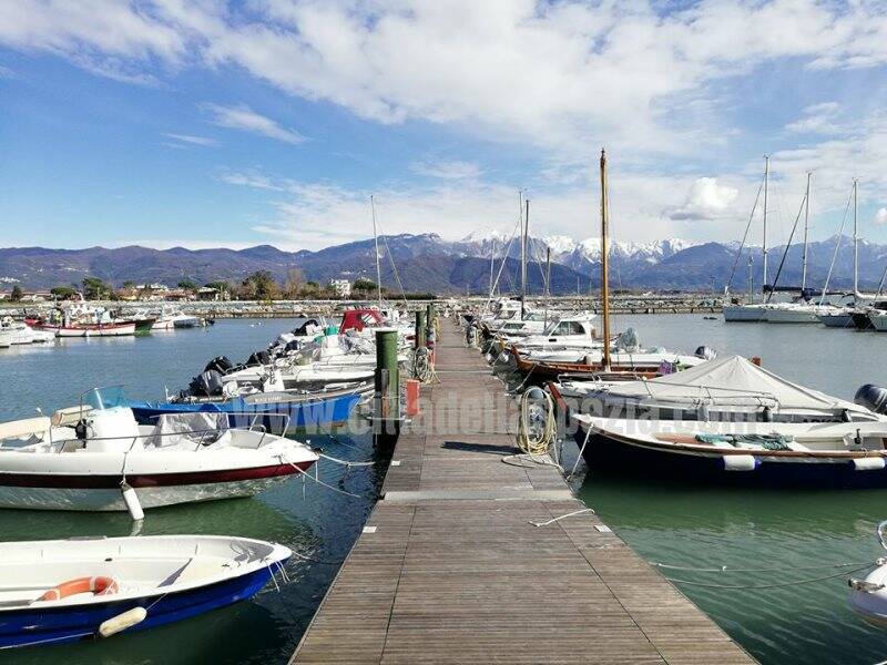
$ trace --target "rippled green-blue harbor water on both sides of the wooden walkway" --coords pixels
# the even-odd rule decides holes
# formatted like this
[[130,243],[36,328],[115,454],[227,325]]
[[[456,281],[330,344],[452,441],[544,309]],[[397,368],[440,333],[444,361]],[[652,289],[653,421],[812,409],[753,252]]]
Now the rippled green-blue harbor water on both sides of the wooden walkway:
[[[130,396],[156,399],[184,387],[214,356],[238,361],[298,321],[224,320],[207,329],[141,338],[69,339],[49,347],[0,350],[0,420],[49,413],[77,403],[81,391],[123,383]],[[791,380],[847,399],[860,383],[887,385],[887,335],[818,326],[731,324],[702,315],[620,316],[644,345],[762,357]],[[293,581],[256,598],[179,624],[108,641],[0,653],[0,663],[285,663],[310,621],[336,562],[348,552],[385,472],[384,451],[369,437],[338,432],[313,438],[336,458],[375,459],[344,468],[326,460],[322,480],[341,492],[292,479],[255,499],[151,511],[142,533],[223,533],[282,542]],[[573,452],[574,454],[574,452]],[[676,487],[599,477],[591,470],[580,498],[640,554],[687,569],[722,565],[779,569],[871,561],[883,554],[874,526],[887,519],[883,491],[799,492]],[[128,535],[126,514],[0,511],[0,539]],[[756,658],[776,663],[873,665],[887,658],[887,632],[868,627],[846,604],[846,576],[804,585],[764,586],[833,574],[833,570],[699,573],[664,570]],[[858,573],[864,574],[864,573]]]

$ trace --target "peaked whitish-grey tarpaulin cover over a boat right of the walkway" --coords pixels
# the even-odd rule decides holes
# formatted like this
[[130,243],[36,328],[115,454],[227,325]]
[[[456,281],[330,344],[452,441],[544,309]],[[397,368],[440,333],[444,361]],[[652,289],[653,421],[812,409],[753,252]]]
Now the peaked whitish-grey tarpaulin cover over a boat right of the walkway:
[[612,405],[687,408],[708,403],[733,409],[769,407],[870,415],[865,407],[787,381],[742,356],[718,357],[654,379],[599,385],[587,395]]

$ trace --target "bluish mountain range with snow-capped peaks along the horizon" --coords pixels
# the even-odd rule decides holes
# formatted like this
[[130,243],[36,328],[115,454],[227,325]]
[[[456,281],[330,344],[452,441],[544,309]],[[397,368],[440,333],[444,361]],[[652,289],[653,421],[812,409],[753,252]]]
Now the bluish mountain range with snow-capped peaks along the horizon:
[[[835,244],[840,247],[835,260],[832,287],[850,287],[853,244],[833,236],[808,246],[807,285],[822,288],[833,259]],[[599,238],[574,241],[565,236],[528,239],[528,285],[531,293],[543,289],[547,252],[551,252],[552,293],[588,293],[600,285],[601,245]],[[762,249],[746,247],[737,259],[735,243],[699,243],[669,238],[651,243],[610,244],[610,280],[615,288],[717,290],[733,275],[732,289],[762,284]],[[784,247],[768,253],[772,283]],[[506,256],[504,265],[502,257]],[[491,274],[499,289],[513,291],[520,284],[520,242],[497,232],[476,232],[460,241],[446,241],[437,234],[402,234],[379,237],[383,284],[407,291],[487,293]],[[26,289],[43,289],[80,284],[84,277],[99,277],[114,286],[125,280],[175,285],[186,279],[197,284],[215,280],[239,282],[256,270],[267,270],[283,282],[293,268],[306,279],[375,280],[376,258],[373,239],[327,247],[317,252],[284,252],[271,245],[246,249],[151,249],[140,246],[118,248],[47,249],[43,247],[0,248],[0,288],[18,284]],[[793,245],[779,273],[779,285],[801,283],[802,246]],[[875,288],[887,265],[887,245],[859,243],[859,282]],[[396,266],[396,273],[395,268]],[[734,270],[735,267],[735,270]],[[3,286],[4,285],[4,286]]]

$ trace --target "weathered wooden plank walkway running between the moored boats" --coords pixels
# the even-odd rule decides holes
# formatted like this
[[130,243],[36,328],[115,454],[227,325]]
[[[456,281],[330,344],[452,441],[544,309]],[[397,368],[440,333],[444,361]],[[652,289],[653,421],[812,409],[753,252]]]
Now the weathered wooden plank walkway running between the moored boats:
[[292,663],[754,663],[594,514],[531,524],[584,505],[502,461],[513,400],[443,328],[440,383]]

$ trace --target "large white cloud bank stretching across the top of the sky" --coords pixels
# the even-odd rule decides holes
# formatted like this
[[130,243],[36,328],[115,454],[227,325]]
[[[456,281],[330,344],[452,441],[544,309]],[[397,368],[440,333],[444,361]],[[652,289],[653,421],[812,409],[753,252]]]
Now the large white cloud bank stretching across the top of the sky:
[[[703,99],[712,83],[788,58],[808,69],[887,63],[887,21],[876,2],[816,0],[676,10],[643,0],[262,0],[248,11],[33,0],[0,4],[0,43],[142,82],[157,64],[230,64],[379,122],[457,123],[575,156],[602,136],[621,151],[715,151],[730,127]],[[228,111],[223,122],[300,140],[248,110]]]

